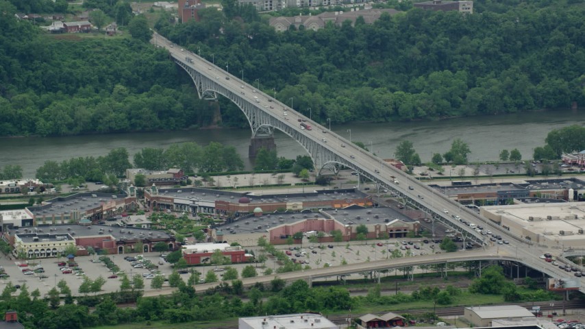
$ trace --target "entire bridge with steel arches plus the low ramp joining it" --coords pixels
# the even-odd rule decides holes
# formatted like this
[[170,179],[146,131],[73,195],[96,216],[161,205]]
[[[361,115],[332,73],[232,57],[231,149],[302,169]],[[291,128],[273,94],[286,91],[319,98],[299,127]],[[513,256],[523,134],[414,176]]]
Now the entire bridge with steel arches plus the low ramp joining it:
[[[535,269],[543,267],[545,262],[540,260],[539,256],[546,250],[535,245],[532,241],[527,241],[521,236],[514,236],[505,228],[488,221],[488,219],[463,207],[458,202],[454,202],[437,193],[434,188],[421,184],[421,182],[407,173],[386,164],[371,152],[357,147],[342,136],[286,106],[275,97],[262,93],[258,88],[254,88],[254,86],[247,84],[247,82],[235,75],[229,74],[228,71],[224,71],[221,67],[214,65],[214,62],[209,62],[195,53],[182,49],[179,45],[174,45],[155,32],[151,42],[157,47],[167,49],[175,63],[190,75],[200,98],[216,99],[217,94],[220,94],[236,103],[249,121],[252,138],[272,136],[274,130],[280,130],[297,141],[303,149],[306,149],[318,172],[327,169],[336,172],[340,167],[352,168],[362,177],[375,182],[378,190],[388,189],[393,195],[402,198],[406,203],[427,212],[433,221],[440,221],[445,226],[458,231],[464,239],[482,245],[484,249],[488,245],[486,236],[471,229],[460,220],[454,218],[453,215],[457,214],[468,222],[471,221],[482,225],[485,223],[487,228],[493,230],[496,234],[501,234],[515,248],[515,254],[508,254],[508,256],[474,254],[473,252],[435,254],[393,260],[393,264],[397,264],[395,266],[407,267],[448,261],[503,259],[523,263]],[[226,67],[226,69],[228,68]],[[310,125],[312,129],[308,129],[306,125]],[[511,247],[499,246],[499,248],[506,250]],[[487,251],[484,250],[484,252]],[[357,270],[358,267],[359,271],[377,271],[377,269],[388,268],[388,263],[387,261],[379,261],[360,265],[345,265],[338,269],[336,267],[314,269],[306,271],[304,274],[297,272],[283,273],[279,277],[308,278],[310,276],[318,278],[321,274],[323,276],[343,276],[348,273],[354,273],[354,269]],[[567,276],[567,274],[561,273],[559,269],[553,269],[550,266],[543,267],[542,271],[556,278]],[[255,282],[258,282],[258,280],[260,278],[255,278]],[[584,286],[582,286],[581,290],[585,291]]]

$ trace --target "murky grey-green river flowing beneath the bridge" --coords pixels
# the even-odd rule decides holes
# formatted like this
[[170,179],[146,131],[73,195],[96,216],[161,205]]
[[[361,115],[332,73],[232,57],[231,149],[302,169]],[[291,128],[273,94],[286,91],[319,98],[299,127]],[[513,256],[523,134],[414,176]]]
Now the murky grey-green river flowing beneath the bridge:
[[[327,123],[322,123],[327,125]],[[567,125],[585,125],[582,112],[558,110],[484,117],[467,117],[443,121],[406,123],[332,124],[332,130],[351,141],[361,141],[382,158],[392,158],[403,140],[414,144],[423,162],[432,154],[443,154],[455,138],[461,138],[470,149],[470,161],[496,160],[502,149],[519,149],[523,158],[532,158],[534,147],[543,146],[548,132]],[[0,167],[20,164],[25,178],[45,160],[62,161],[79,156],[103,156],[116,147],[125,147],[132,156],[143,147],[166,148],[173,143],[194,141],[207,145],[212,141],[233,145],[251,167],[248,158],[249,129],[214,129],[179,132],[144,132],[66,137],[25,137],[0,139]],[[288,136],[275,134],[278,156],[296,158],[305,151]]]

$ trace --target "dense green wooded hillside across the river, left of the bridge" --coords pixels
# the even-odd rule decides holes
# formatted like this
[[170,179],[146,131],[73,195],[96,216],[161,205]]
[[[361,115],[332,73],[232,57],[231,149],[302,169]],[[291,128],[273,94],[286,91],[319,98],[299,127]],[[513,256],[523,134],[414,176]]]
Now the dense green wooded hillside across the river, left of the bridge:
[[[132,38],[43,34],[0,0],[0,135],[65,135],[208,125],[166,51]],[[186,88],[186,90],[182,90]]]

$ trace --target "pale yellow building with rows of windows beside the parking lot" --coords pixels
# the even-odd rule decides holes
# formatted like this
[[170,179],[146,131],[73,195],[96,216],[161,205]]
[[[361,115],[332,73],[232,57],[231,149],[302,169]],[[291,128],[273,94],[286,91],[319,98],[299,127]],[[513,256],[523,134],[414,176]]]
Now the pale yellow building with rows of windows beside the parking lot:
[[14,234],[14,256],[26,255],[27,258],[56,257],[67,247],[75,247],[75,239],[69,233],[17,233]]

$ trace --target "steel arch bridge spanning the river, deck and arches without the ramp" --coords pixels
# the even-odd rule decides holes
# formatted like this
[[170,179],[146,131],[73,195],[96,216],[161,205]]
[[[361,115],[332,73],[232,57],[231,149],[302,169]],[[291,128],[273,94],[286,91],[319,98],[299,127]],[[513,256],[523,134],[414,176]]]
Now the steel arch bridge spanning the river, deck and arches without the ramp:
[[[430,214],[434,220],[458,230],[465,239],[480,245],[486,242],[485,237],[478,232],[454,220],[451,215],[445,215],[448,213],[447,208],[452,213],[461,211],[460,204],[457,202],[438,195],[432,188],[421,184],[407,173],[387,164],[369,151],[353,145],[342,136],[330,132],[326,127],[292,110],[277,99],[256,90],[250,84],[214,65],[214,62],[209,62],[190,51],[184,51],[156,33],[151,42],[169,51],[173,61],[191,77],[197,95],[201,99],[212,100],[217,99],[218,94],[223,95],[242,110],[251,128],[251,149],[257,141],[260,141],[258,143],[260,145],[263,139],[273,141],[273,132],[280,130],[307,151],[317,172],[330,170],[337,173],[340,167],[351,168],[362,178],[375,182],[378,191],[387,189],[388,193],[402,197],[412,206]],[[306,122],[312,125],[313,129],[303,129],[299,122]],[[403,185],[398,184],[398,179]],[[409,191],[412,189],[411,186],[416,186],[416,191]],[[432,198],[434,201],[429,202]],[[469,217],[484,220],[469,210],[464,209],[463,212]],[[502,234],[510,236],[505,231],[502,231]],[[510,239],[530,244],[530,241],[523,241],[517,236],[510,236]]]

